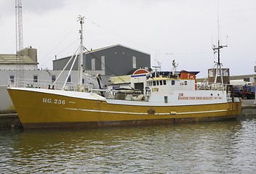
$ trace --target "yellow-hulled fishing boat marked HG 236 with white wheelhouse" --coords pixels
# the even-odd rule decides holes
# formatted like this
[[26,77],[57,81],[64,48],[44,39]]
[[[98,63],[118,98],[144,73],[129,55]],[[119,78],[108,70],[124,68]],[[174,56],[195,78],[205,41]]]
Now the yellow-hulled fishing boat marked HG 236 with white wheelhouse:
[[62,88],[54,87],[55,83],[48,88],[7,88],[23,128],[155,125],[225,120],[241,114],[241,100],[233,96],[232,86],[215,83],[201,88],[196,85],[198,72],[177,72],[175,62],[169,72],[137,70],[129,76],[129,88],[116,86],[113,79],[107,89],[89,88],[82,82],[84,17],[79,21],[76,88],[68,90],[65,83]]

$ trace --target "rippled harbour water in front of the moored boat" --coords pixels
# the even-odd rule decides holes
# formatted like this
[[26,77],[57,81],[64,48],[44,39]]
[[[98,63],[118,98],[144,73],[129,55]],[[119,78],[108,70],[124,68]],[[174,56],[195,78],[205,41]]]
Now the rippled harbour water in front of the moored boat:
[[254,173],[256,119],[0,130],[0,173]]

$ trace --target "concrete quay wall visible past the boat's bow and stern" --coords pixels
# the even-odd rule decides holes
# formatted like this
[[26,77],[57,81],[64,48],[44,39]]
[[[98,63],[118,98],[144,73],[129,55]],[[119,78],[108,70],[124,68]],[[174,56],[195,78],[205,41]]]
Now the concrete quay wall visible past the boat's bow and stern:
[[[256,117],[256,105],[255,100],[242,100],[241,116],[243,117]],[[8,128],[23,128],[17,113],[0,114],[0,129]]]

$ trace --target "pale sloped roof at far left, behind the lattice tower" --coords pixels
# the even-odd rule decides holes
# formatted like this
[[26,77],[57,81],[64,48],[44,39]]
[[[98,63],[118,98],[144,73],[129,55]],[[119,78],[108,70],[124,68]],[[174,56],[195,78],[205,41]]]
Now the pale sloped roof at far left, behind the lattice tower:
[[[16,64],[17,62],[20,62],[19,57],[16,56],[16,54],[0,54],[0,64]],[[33,59],[31,59],[28,56],[23,56],[23,64],[26,65],[38,65],[38,62],[34,62]]]

